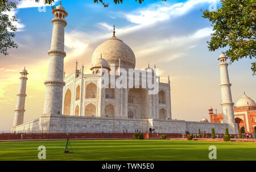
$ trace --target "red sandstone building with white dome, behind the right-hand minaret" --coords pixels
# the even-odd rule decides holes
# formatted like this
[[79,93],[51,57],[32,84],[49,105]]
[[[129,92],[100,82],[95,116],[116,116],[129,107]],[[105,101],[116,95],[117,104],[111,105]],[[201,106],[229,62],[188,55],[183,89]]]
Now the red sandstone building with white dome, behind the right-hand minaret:
[[[242,133],[253,132],[256,130],[256,104],[250,97],[246,96],[245,92],[240,100],[237,101],[234,109],[234,118],[238,125],[238,129]],[[213,109],[209,108],[210,122],[223,123],[222,113],[213,113]],[[207,122],[202,121],[201,122]]]

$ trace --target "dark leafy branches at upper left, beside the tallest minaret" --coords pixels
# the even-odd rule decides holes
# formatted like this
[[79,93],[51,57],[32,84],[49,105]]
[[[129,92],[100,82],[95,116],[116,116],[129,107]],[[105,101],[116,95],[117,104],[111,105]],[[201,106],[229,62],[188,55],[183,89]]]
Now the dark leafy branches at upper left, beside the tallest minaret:
[[[3,1],[3,0],[1,0]],[[17,31],[15,21],[18,21],[17,15],[9,16],[6,12],[10,12],[17,7],[16,2],[8,2],[5,6],[0,6],[0,53],[8,55],[7,49],[18,48],[18,45],[13,41]]]

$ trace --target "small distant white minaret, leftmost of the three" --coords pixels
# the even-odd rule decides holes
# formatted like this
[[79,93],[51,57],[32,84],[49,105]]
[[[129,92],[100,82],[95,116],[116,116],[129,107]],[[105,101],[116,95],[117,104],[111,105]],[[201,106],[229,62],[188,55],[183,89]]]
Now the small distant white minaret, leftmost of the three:
[[27,85],[27,70],[24,68],[22,72],[20,72],[20,83],[19,83],[19,92],[17,94],[17,102],[16,102],[16,110],[14,115],[13,127],[19,126],[23,124],[24,111],[25,111],[25,98],[26,94],[26,85]]

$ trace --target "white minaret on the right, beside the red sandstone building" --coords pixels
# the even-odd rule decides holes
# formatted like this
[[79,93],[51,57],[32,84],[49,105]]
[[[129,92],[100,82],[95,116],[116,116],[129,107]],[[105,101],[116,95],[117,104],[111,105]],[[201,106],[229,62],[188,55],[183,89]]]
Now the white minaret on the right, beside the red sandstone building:
[[229,73],[228,73],[228,63],[226,62],[226,55],[222,52],[220,57],[218,58],[218,61],[220,61],[220,64],[218,65],[220,67],[220,78],[221,78],[221,106],[223,110],[223,119],[225,123],[234,124],[234,110],[232,102],[232,95],[229,83]]

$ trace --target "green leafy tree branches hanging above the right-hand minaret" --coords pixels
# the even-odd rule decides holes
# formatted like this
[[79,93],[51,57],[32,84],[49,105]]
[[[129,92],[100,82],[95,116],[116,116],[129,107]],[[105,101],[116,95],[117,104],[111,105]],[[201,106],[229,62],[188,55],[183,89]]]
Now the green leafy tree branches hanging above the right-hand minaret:
[[[255,0],[221,0],[217,11],[204,11],[203,18],[212,22],[213,31],[208,49],[228,47],[226,56],[231,62],[241,58],[255,59]],[[255,62],[251,63],[255,74]]]

